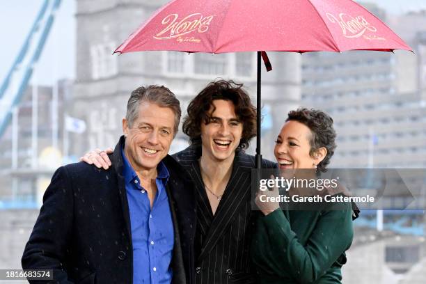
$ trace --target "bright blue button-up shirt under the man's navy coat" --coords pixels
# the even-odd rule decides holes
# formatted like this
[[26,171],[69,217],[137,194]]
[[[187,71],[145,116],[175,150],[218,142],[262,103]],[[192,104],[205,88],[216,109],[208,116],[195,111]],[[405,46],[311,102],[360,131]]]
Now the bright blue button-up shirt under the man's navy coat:
[[141,187],[123,149],[121,155],[132,228],[133,283],[171,283],[174,232],[166,193],[168,170],[162,161],[157,166],[158,190],[151,209],[148,193]]

